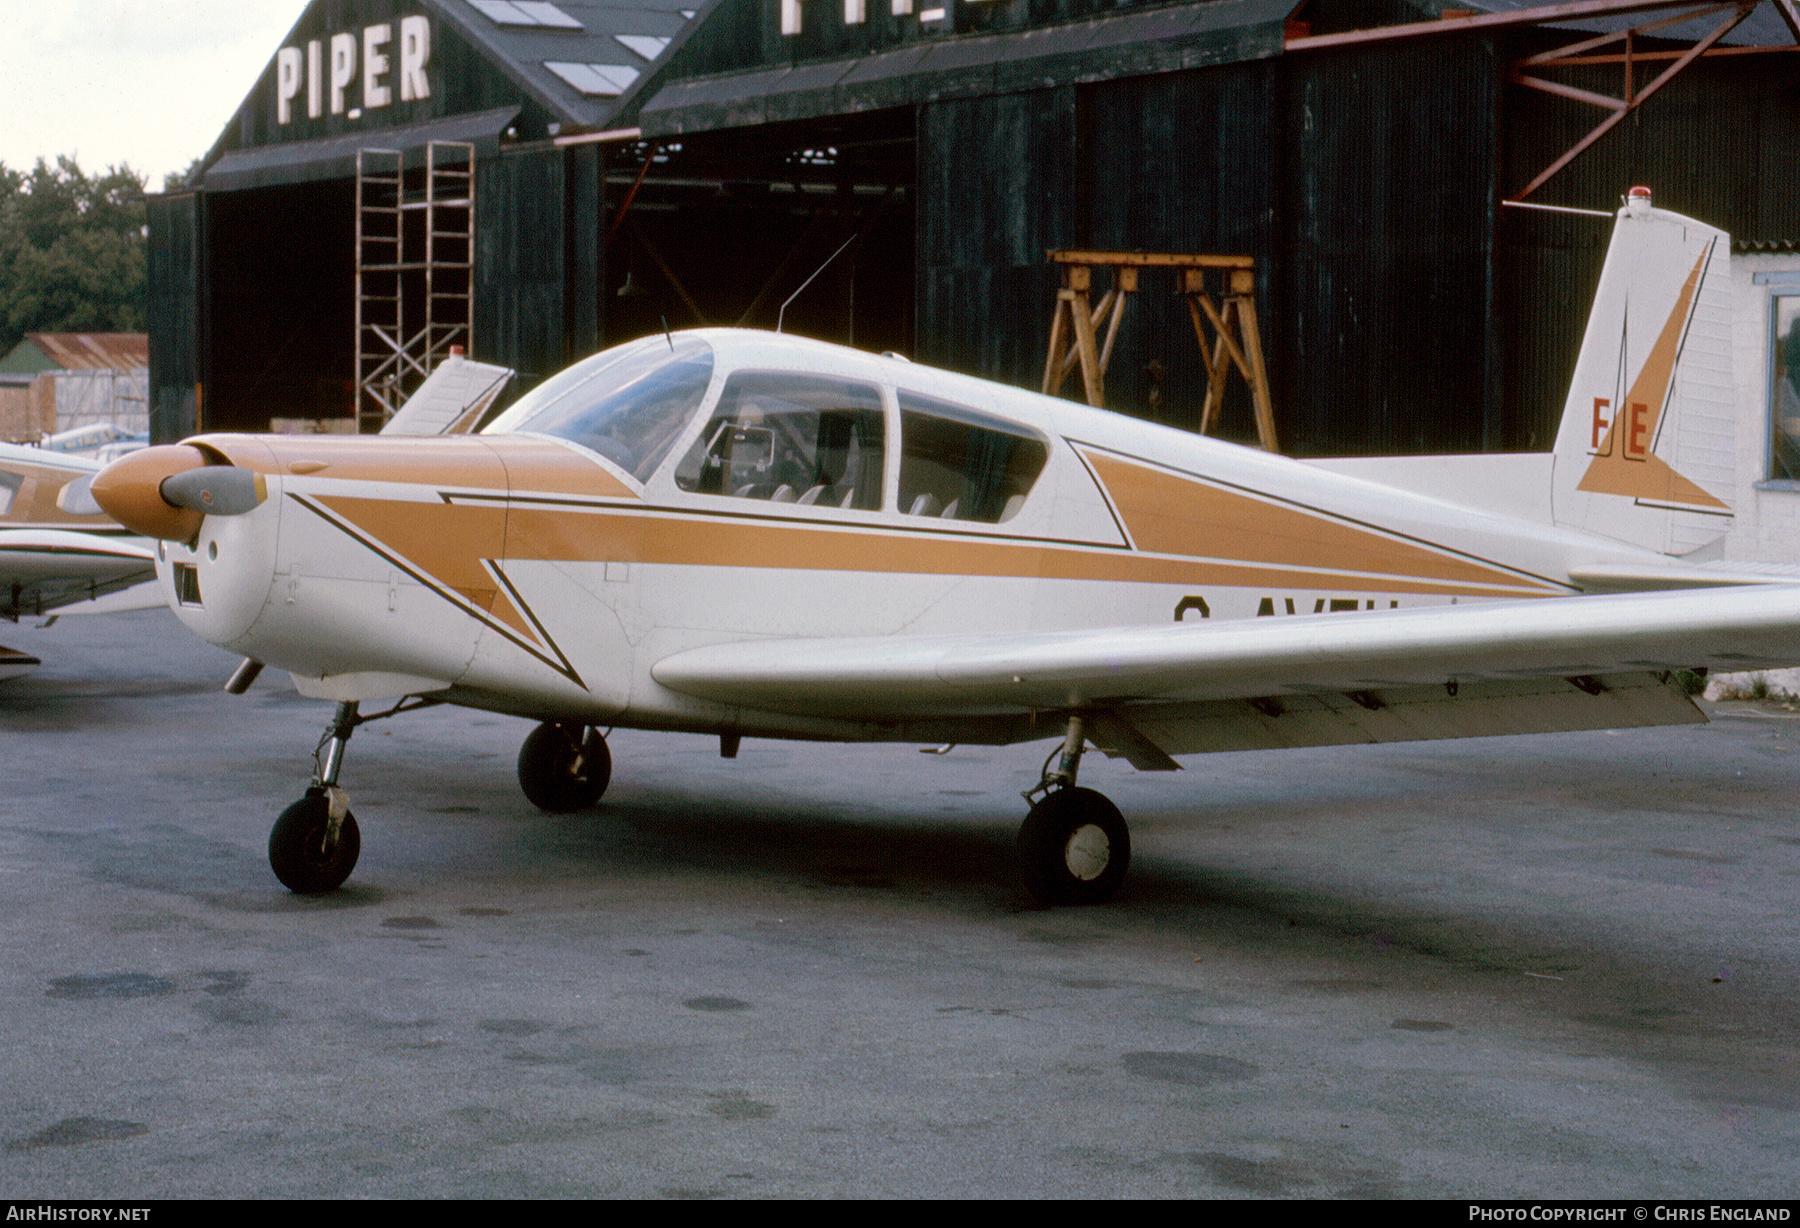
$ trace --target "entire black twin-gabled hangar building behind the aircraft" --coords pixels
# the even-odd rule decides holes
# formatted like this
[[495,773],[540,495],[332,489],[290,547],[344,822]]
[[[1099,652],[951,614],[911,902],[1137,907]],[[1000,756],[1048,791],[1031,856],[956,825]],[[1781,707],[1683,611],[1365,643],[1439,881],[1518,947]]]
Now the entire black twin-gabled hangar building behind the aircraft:
[[[153,198],[157,436],[367,429],[389,290],[425,295],[389,328],[418,362],[466,344],[518,387],[778,319],[1037,385],[1046,252],[1100,248],[1253,257],[1291,452],[1532,450],[1606,221],[1508,202],[1651,184],[1746,250],[1800,236],[1791,0],[659,2],[310,4],[202,182]],[[405,259],[369,241],[383,157]],[[1107,405],[1193,427],[1204,387],[1145,277]],[[1255,438],[1246,398],[1224,430]]]

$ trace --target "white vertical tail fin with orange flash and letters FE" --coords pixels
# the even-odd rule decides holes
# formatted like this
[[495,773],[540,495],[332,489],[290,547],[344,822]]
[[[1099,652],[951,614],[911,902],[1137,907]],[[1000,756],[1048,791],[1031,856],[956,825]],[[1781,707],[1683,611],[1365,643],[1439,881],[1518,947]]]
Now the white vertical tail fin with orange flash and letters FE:
[[1557,524],[1665,555],[1732,528],[1730,279],[1728,234],[1631,189],[1562,407]]

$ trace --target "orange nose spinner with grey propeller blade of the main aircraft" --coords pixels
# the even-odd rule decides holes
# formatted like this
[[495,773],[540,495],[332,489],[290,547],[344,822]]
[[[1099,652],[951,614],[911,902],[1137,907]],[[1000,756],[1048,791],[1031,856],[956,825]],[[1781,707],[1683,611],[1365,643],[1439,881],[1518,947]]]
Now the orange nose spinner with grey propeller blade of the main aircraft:
[[128,452],[88,492],[124,528],[166,542],[193,542],[207,515],[238,515],[266,497],[261,474],[214,465],[187,443]]

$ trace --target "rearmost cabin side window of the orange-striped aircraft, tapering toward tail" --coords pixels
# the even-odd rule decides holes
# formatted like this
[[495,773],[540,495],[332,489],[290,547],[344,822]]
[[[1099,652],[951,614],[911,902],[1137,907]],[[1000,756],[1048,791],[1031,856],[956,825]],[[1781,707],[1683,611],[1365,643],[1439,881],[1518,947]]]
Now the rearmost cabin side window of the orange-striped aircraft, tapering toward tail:
[[900,511],[1010,520],[1044,470],[1040,438],[974,409],[900,393]]

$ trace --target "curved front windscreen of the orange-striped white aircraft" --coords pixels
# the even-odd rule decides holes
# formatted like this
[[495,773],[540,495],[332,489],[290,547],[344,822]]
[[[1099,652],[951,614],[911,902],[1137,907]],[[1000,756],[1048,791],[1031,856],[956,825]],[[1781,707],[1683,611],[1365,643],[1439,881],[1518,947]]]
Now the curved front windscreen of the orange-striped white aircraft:
[[646,337],[551,376],[482,434],[526,430],[599,452],[648,481],[706,400],[713,348],[698,337]]

